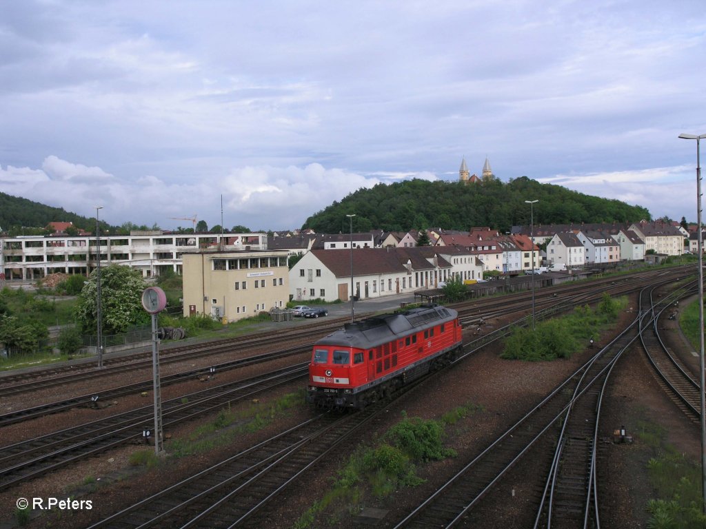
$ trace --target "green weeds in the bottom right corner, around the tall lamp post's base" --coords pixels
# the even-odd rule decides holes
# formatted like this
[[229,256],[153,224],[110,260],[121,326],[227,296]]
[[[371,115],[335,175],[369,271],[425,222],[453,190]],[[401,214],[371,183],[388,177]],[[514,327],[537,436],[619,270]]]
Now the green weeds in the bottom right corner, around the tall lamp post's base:
[[689,461],[666,443],[664,427],[652,422],[638,423],[637,437],[653,456],[647,462],[647,475],[654,497],[647,500],[650,529],[703,529],[701,466]]

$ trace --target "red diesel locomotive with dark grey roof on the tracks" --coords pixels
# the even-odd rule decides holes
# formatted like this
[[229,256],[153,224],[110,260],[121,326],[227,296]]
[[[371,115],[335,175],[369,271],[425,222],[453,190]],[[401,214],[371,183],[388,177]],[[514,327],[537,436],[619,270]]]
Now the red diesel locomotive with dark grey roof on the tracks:
[[461,351],[458,313],[438,305],[347,323],[313,346],[306,401],[364,408]]

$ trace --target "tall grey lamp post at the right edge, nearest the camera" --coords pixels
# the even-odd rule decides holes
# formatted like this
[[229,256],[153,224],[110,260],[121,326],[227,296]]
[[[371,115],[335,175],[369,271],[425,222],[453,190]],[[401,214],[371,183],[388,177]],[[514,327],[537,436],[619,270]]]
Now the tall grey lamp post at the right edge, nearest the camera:
[[701,232],[701,163],[699,141],[706,134],[680,134],[683,140],[696,140],[696,228],[698,230],[696,250],[699,255],[699,371],[701,387],[701,490],[702,511],[706,513],[706,398],[704,396],[704,273],[703,273],[703,235]]

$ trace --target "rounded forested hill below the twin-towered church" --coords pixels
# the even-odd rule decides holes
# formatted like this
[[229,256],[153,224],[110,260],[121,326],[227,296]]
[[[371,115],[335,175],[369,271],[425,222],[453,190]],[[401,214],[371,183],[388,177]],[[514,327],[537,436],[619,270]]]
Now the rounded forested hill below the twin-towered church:
[[508,183],[491,178],[468,184],[425,180],[378,184],[333,202],[306,219],[302,227],[317,233],[345,233],[349,230],[346,214],[355,214],[354,231],[469,230],[473,226],[509,231],[514,225],[529,226],[530,205],[525,200],[539,200],[534,204],[535,225],[652,219],[645,207],[583,195],[522,176]]

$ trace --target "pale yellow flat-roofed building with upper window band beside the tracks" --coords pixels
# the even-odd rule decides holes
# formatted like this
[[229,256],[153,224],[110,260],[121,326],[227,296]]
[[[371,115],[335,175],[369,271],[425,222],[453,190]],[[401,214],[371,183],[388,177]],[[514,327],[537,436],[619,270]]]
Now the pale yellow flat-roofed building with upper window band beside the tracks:
[[205,314],[232,322],[287,305],[287,250],[185,252],[181,259],[184,316]]

